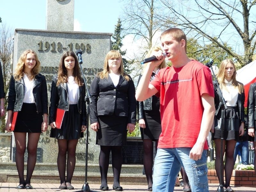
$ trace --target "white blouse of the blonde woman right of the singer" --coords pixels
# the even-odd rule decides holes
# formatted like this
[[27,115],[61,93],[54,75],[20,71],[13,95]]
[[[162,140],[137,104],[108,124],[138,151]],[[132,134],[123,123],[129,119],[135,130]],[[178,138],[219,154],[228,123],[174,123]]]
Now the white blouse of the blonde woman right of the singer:
[[236,107],[236,102],[237,102],[237,98],[238,98],[238,90],[232,85],[233,81],[231,80],[230,82],[228,82],[226,79],[224,80],[225,84],[226,84],[226,88],[224,89],[222,88],[222,95],[225,99],[225,101],[227,101],[227,106],[229,107]]

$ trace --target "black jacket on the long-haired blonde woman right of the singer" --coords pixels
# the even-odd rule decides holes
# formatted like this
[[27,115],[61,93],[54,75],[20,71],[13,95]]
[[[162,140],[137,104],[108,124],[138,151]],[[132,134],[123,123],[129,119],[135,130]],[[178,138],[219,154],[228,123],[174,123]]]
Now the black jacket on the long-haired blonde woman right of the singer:
[[[244,85],[240,82],[238,82],[239,84],[241,84],[243,87]],[[216,88],[216,84],[214,82],[213,84],[214,86],[214,104],[215,104],[215,116],[220,117],[221,114],[221,109],[220,109],[220,95],[219,92],[217,91]],[[242,122],[245,122],[244,119],[244,92],[242,94],[238,93],[238,97],[237,97],[237,106],[238,106],[238,110],[239,110],[239,118],[241,119]]]

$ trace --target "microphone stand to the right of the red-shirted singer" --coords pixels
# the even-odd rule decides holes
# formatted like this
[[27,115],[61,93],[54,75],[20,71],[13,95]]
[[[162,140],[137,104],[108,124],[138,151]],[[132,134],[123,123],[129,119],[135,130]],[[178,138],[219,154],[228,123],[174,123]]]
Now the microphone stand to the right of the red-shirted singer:
[[223,128],[224,128],[224,109],[227,109],[227,104],[226,104],[226,101],[225,99],[223,98],[222,96],[222,93],[221,93],[221,90],[220,90],[220,86],[217,82],[217,79],[216,79],[216,76],[213,72],[213,69],[212,69],[212,64],[213,64],[213,60],[206,63],[205,65],[207,67],[209,67],[211,69],[211,72],[212,72],[212,75],[214,76],[214,84],[216,85],[216,88],[218,90],[218,92],[220,93],[220,106],[221,106],[221,124],[220,124],[220,130],[221,130],[221,138],[220,138],[220,179],[219,179],[219,182],[220,182],[220,185],[219,187],[217,188],[217,192],[224,192],[224,186],[221,184],[222,180],[223,180],[223,166],[222,166],[222,163],[223,163],[223,156],[222,156],[222,146],[223,146]]

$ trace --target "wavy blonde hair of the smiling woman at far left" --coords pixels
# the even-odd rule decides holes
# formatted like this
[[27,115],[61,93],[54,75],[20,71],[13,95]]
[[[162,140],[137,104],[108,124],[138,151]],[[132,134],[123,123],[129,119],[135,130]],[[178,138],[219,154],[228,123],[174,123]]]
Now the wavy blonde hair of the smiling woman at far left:
[[23,72],[24,72],[24,69],[25,69],[25,62],[26,62],[26,59],[27,59],[27,54],[28,53],[33,53],[35,55],[35,58],[36,58],[36,65],[35,67],[31,70],[31,79],[35,78],[35,76],[37,74],[39,74],[40,72],[40,69],[41,69],[41,63],[40,61],[38,60],[38,56],[36,54],[35,51],[31,50],[31,49],[27,49],[26,51],[24,51],[21,55],[20,55],[20,58],[18,60],[18,63],[17,63],[17,67],[15,68],[15,72],[13,74],[13,77],[15,79],[15,81],[19,81],[21,79],[21,77],[23,77]]

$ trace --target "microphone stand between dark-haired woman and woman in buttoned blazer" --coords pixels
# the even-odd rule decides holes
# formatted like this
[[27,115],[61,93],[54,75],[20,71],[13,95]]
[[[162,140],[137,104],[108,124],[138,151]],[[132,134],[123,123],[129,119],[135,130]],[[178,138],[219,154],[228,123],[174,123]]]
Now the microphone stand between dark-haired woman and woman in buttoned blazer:
[[85,81],[85,78],[84,78],[84,73],[83,73],[83,68],[82,68],[82,64],[83,63],[83,61],[82,60],[80,60],[79,61],[79,65],[80,65],[80,69],[81,69],[81,72],[82,72],[82,74],[83,74],[83,79],[84,79],[84,84],[85,84],[85,89],[86,89],[86,92],[87,92],[87,94],[86,94],[86,112],[87,112],[87,114],[86,114],[86,140],[85,140],[85,144],[86,144],[86,149],[85,149],[85,180],[84,180],[84,185],[83,185],[83,187],[82,187],[82,191],[83,192],[90,192],[90,187],[89,187],[89,184],[88,184],[88,182],[87,182],[87,169],[88,169],[88,167],[87,167],[87,164],[88,164],[88,134],[89,134],[89,102],[90,103],[92,103],[92,96],[91,96],[91,93],[89,92],[89,89],[88,89],[88,86],[87,86],[87,83],[86,83],[86,81]]

